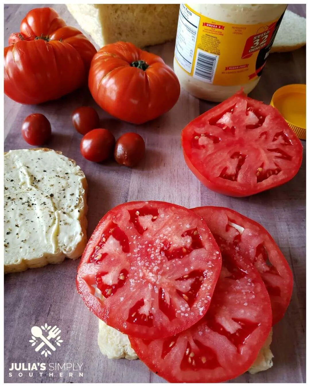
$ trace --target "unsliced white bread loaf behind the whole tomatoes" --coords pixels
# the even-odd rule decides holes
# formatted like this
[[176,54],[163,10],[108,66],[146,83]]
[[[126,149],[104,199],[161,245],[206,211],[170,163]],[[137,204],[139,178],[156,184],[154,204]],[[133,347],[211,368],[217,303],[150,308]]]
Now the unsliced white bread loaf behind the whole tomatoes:
[[175,39],[180,4],[66,4],[99,48],[117,41],[138,47]]

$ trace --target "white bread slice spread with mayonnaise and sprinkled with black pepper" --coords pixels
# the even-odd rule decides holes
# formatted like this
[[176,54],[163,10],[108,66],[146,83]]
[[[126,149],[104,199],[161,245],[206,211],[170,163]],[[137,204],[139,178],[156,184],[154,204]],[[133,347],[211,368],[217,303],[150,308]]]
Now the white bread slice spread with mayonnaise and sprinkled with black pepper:
[[4,154],[4,272],[77,259],[87,242],[87,181],[47,148]]

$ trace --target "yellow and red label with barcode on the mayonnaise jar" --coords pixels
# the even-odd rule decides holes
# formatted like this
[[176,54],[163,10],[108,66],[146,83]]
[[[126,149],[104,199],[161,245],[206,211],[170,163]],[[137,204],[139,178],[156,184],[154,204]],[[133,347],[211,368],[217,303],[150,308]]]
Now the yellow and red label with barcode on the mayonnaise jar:
[[192,77],[222,86],[260,76],[282,15],[259,24],[230,24],[180,5],[175,59]]

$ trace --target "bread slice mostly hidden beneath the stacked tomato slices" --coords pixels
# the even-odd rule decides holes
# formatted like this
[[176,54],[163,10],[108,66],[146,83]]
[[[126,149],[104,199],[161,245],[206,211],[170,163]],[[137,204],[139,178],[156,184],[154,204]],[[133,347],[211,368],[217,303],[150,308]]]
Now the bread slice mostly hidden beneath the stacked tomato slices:
[[[135,351],[130,345],[128,336],[119,332],[118,330],[109,327],[102,320],[99,320],[99,332],[98,332],[98,345],[100,352],[106,355],[109,359],[121,359],[126,358],[128,360],[135,360],[138,358]],[[272,367],[273,354],[270,351],[270,344],[272,340],[272,330],[263,345],[262,349],[258,353],[258,356],[249,368],[249,373],[257,373],[260,371],[268,370]]]

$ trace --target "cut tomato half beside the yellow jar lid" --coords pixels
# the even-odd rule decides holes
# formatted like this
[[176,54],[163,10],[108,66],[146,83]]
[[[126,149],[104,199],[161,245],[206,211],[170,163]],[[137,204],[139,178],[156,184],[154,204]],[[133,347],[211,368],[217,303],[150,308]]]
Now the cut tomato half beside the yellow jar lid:
[[291,180],[303,147],[277,109],[238,92],[182,131],[184,158],[206,187],[249,196]]

